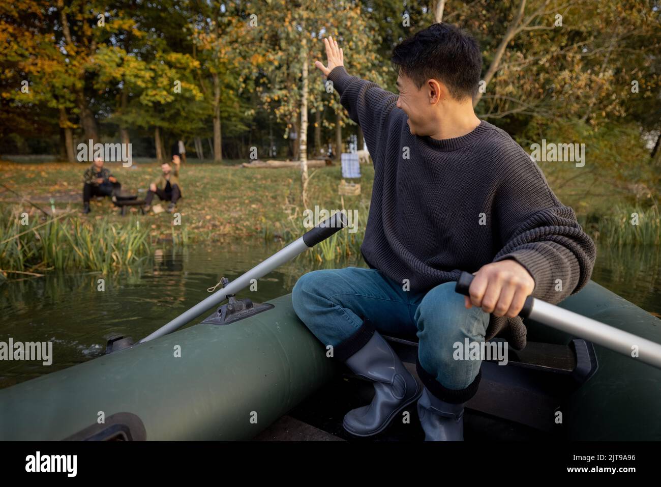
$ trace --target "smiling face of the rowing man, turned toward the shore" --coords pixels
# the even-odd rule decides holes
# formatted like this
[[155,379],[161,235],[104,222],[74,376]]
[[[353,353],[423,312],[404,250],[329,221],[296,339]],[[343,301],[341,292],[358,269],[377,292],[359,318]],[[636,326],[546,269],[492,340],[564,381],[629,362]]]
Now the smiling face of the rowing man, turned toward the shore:
[[[438,84],[436,86],[438,87]],[[411,135],[422,137],[433,134],[435,112],[431,97],[434,93],[432,93],[428,83],[418,89],[412,79],[403,73],[399,73],[397,89],[399,89],[397,107],[407,114],[408,130],[410,130]],[[438,96],[438,93],[436,95]]]

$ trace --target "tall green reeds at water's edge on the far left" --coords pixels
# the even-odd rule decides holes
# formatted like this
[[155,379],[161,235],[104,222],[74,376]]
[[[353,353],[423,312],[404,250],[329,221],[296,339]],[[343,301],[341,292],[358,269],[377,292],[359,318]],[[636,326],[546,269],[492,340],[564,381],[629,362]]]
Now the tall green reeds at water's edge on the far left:
[[[149,229],[130,218],[106,220],[32,217],[23,225],[19,211],[0,214],[0,268],[87,269],[107,272],[132,265],[151,254]],[[19,236],[20,234],[20,236]]]

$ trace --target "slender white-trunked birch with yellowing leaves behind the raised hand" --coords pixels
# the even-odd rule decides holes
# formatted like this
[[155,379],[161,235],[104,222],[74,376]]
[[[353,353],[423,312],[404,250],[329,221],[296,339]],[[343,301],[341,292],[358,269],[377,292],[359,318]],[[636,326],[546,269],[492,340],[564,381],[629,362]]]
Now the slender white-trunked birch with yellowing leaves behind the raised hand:
[[[259,81],[256,89],[264,106],[287,123],[284,136],[288,137],[292,130],[297,134],[301,195],[303,206],[307,207],[309,111],[328,107],[339,114],[342,110],[317,69],[311,73],[312,63],[323,59],[321,39],[329,35],[338,38],[346,52],[347,68],[379,83],[379,59],[374,48],[379,38],[360,5],[354,2],[267,0],[254,8],[249,46],[256,54],[253,59],[260,61],[254,66]],[[338,152],[341,150],[338,147]]]

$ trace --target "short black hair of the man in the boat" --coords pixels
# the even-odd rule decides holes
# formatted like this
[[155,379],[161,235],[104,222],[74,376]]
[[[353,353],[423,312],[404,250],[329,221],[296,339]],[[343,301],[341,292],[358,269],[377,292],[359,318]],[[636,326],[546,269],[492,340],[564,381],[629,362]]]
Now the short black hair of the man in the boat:
[[444,23],[433,24],[398,44],[392,62],[418,89],[428,79],[438,79],[455,99],[475,97],[482,73],[477,40]]

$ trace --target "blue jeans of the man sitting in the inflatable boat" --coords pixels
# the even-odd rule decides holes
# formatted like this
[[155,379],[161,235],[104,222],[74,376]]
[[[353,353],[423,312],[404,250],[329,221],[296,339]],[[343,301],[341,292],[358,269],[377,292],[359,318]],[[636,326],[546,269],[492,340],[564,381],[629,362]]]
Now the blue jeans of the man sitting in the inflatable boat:
[[426,292],[405,291],[376,269],[346,267],[301,276],[292,301],[298,317],[325,345],[346,342],[364,320],[386,335],[415,333],[418,365],[442,388],[459,390],[473,384],[481,361],[455,360],[453,344],[465,338],[484,341],[489,315],[475,306],[466,309],[454,288],[455,283],[445,283]]

